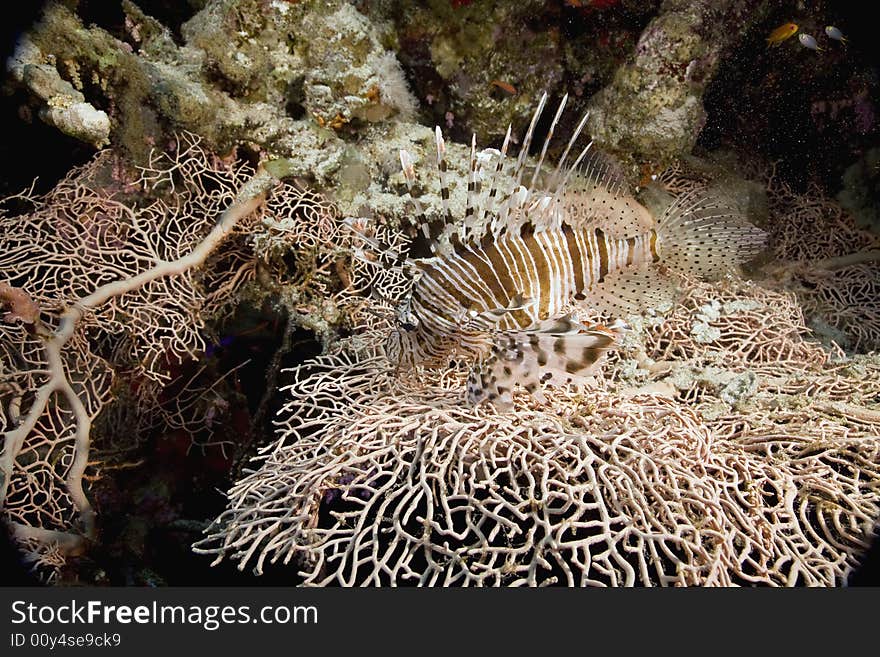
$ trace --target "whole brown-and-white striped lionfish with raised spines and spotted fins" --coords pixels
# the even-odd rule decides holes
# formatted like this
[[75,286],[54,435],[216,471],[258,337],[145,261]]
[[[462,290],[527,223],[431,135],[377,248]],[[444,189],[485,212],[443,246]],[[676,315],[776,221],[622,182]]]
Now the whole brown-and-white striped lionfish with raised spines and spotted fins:
[[[527,185],[527,156],[546,93],[515,159],[508,157],[510,127],[500,150],[477,152],[476,137],[471,139],[466,210],[459,220],[450,210],[446,145],[435,129],[444,215],[439,230],[414,193],[413,157],[400,151],[430,257],[391,252],[364,220],[348,220],[372,251],[361,251],[362,257],[413,274],[391,341],[399,363],[437,367],[471,359],[472,403],[488,400],[508,408],[516,386],[542,400],[542,384],[587,382],[626,328],[624,316],[674,296],[670,274],[723,274],[754,257],[765,242],[765,234],[737,211],[701,191],[679,197],[654,222],[625,192],[611,161],[590,153],[592,142],[569,163],[588,115],[553,170],[545,170],[567,99],[552,119]],[[608,326],[582,324],[574,315],[582,310],[620,319]]]

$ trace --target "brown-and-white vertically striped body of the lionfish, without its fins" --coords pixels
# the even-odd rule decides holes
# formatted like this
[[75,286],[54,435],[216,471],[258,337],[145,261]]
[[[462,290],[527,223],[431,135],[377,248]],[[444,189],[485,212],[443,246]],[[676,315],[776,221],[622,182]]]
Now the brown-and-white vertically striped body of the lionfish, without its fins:
[[614,239],[598,228],[565,225],[459,245],[454,254],[420,261],[410,299],[419,319],[415,361],[450,350],[482,355],[486,331],[526,329],[558,317],[572,301],[587,299],[607,274],[658,259],[655,231]]

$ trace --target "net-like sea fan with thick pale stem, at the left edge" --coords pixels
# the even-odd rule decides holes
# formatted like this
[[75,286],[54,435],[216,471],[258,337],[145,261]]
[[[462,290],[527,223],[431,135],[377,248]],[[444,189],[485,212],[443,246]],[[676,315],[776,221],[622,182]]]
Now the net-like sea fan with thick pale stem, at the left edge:
[[182,135],[138,171],[104,151],[47,194],[4,201],[0,503],[38,566],[94,537],[84,479],[114,380],[149,405],[167,364],[198,357],[205,319],[253,278],[244,236],[267,181]]

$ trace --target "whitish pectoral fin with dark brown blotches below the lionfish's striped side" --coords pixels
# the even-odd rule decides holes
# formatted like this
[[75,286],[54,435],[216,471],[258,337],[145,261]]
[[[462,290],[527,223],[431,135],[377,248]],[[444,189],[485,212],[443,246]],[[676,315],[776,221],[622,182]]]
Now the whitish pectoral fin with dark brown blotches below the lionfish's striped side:
[[614,347],[623,324],[591,326],[580,333],[509,331],[499,333],[491,352],[468,377],[468,401],[488,400],[505,409],[517,385],[538,401],[542,385],[583,384],[605,352]]

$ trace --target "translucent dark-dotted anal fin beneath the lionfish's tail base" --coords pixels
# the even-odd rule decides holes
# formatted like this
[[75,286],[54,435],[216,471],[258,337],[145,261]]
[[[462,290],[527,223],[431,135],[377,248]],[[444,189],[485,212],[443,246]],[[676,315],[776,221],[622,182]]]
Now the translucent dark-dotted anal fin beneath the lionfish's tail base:
[[678,282],[658,267],[629,269],[605,276],[590,288],[585,307],[610,317],[662,312],[678,297]]

